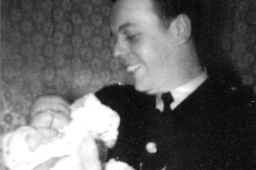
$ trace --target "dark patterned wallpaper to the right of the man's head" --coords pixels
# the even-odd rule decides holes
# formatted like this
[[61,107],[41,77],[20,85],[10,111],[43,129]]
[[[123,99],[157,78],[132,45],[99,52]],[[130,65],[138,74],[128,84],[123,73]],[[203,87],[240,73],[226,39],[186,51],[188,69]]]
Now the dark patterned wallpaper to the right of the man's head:
[[256,1],[226,0],[215,8],[213,11],[218,10],[220,17],[213,25],[223,26],[213,27],[217,28],[217,36],[212,49],[220,47],[221,55],[234,65],[242,84],[256,93]]

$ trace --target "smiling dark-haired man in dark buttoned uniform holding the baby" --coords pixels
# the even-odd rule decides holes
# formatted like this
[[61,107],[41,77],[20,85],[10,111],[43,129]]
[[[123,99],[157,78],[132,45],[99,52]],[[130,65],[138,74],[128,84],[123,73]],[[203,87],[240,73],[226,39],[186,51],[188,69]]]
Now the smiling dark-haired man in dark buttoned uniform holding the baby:
[[198,2],[113,2],[113,53],[133,74],[135,89],[96,93],[121,117],[110,158],[143,170],[254,169],[254,98],[208,75],[199,60]]

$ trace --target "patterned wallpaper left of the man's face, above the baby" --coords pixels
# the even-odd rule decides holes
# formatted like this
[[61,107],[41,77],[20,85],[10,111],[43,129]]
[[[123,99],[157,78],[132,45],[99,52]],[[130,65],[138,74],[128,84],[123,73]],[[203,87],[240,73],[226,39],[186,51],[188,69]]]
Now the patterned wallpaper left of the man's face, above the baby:
[[1,133],[36,96],[72,100],[126,82],[111,56],[109,15],[106,0],[2,0]]

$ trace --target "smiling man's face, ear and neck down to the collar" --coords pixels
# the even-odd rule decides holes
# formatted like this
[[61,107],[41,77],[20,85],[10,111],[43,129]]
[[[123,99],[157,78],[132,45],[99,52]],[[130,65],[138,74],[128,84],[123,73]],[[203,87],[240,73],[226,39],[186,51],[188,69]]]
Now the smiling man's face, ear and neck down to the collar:
[[156,8],[148,0],[118,1],[111,21],[114,56],[134,75],[136,90],[149,94],[170,91],[203,72],[188,16],[162,21]]

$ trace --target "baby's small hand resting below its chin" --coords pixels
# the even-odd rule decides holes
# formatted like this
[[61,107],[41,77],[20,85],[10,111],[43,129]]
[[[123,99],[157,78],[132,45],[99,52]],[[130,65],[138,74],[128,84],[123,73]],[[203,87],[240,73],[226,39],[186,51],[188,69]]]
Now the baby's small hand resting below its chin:
[[52,141],[54,137],[58,136],[58,131],[51,128],[39,128],[34,134],[28,135],[26,137],[26,142],[28,143],[31,152],[34,152],[40,145],[45,145]]

